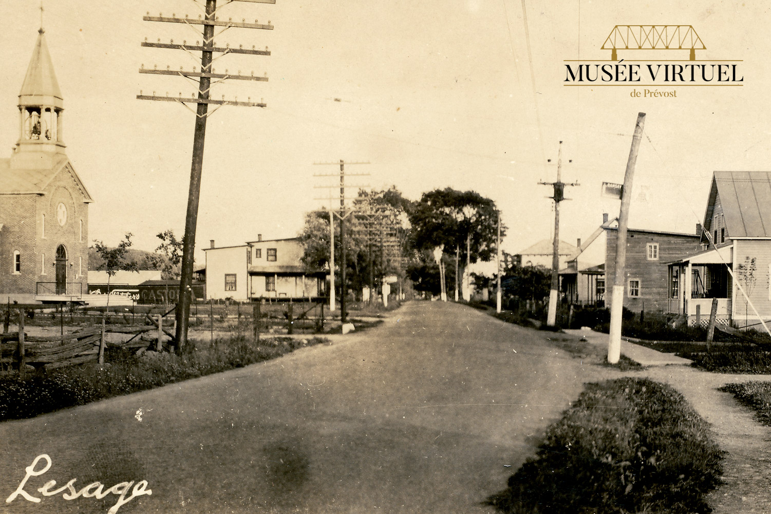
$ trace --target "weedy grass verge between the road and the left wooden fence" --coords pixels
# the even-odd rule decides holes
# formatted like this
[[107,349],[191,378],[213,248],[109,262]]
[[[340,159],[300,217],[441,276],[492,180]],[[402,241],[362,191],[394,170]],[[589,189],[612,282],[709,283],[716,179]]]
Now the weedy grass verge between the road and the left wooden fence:
[[297,348],[327,342],[323,338],[264,338],[259,345],[244,336],[217,338],[213,344],[190,341],[184,354],[147,351],[140,358],[128,352],[110,351],[109,364],[80,365],[35,375],[0,377],[0,420],[32,418],[60,408],[128,395],[242,368],[255,362],[281,357]]

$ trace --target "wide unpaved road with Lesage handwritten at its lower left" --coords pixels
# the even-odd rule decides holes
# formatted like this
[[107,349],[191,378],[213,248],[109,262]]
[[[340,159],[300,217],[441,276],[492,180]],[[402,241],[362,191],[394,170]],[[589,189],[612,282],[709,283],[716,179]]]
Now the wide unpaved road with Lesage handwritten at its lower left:
[[[458,304],[412,302],[331,345],[5,422],[0,510],[115,504],[113,494],[67,501],[36,490],[76,478],[105,489],[146,480],[152,496],[119,512],[492,512],[481,502],[599,378],[550,336]],[[5,503],[43,453],[51,468],[25,486],[42,502]]]

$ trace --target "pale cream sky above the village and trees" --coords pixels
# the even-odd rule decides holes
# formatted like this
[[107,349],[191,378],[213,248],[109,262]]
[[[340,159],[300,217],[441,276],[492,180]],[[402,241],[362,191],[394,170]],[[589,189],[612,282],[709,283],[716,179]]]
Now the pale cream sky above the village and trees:
[[[221,0],[221,18],[271,22],[274,30],[228,29],[215,37],[270,56],[227,55],[215,71],[268,74],[231,81],[214,98],[262,99],[267,107],[224,106],[207,124],[197,227],[201,248],[294,237],[304,213],[329,205],[337,166],[348,184],[395,185],[412,199],[436,188],[476,190],[494,200],[508,227],[503,250],[517,253],[554,230],[550,189],[562,143],[560,238],[575,244],[618,216],[601,197],[621,183],[638,112],[647,114],[629,226],[691,233],[702,221],[714,170],[769,170],[771,12],[763,2],[601,0]],[[0,32],[0,157],[18,139],[19,89],[39,29],[39,0],[0,0],[11,23]],[[177,102],[136,95],[190,96],[195,85],[140,74],[140,66],[200,67],[149,41],[194,42],[187,25],[152,15],[197,18],[204,2],[44,0],[43,26],[64,96],[66,153],[95,200],[89,239],[114,245],[133,233],[153,250],[155,234],[184,228],[194,114]],[[741,87],[676,88],[675,98],[632,98],[634,86],[566,87],[565,59],[610,59],[601,50],[616,24],[693,25],[698,59],[741,59]],[[687,59],[687,51],[671,51]],[[678,53],[679,52],[679,53]],[[619,58],[640,59],[644,52]],[[340,101],[335,101],[339,99]],[[5,146],[2,146],[5,142]],[[547,160],[551,160],[550,163]],[[571,160],[571,162],[568,162]],[[355,194],[352,187],[349,194]]]

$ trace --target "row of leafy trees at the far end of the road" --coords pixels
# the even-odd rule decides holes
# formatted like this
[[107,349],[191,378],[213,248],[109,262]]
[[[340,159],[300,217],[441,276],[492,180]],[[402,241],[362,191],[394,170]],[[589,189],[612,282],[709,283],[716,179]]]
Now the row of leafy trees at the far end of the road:
[[[328,211],[305,216],[300,238],[305,246],[303,262],[309,270],[329,268],[329,222]],[[376,287],[383,277],[395,275],[409,279],[416,291],[462,291],[463,298],[468,299],[468,267],[495,257],[497,223],[496,204],[474,191],[448,187],[423,193],[420,200],[413,201],[403,197],[395,186],[372,192],[362,190],[346,218],[348,289]],[[505,234],[506,227],[502,225],[501,237]],[[335,248],[335,268],[339,269],[337,221]],[[445,275],[444,288],[441,275]]]

